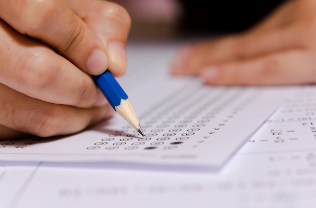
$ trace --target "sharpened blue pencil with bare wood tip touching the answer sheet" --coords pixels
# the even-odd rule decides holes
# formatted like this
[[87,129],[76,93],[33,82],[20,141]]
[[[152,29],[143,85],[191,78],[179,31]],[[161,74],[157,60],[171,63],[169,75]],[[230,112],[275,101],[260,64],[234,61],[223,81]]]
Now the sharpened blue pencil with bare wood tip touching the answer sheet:
[[120,84],[113,77],[111,72],[106,72],[92,76],[94,82],[101,90],[103,95],[107,98],[113,109],[118,112],[134,129],[136,129],[142,136],[144,135],[143,130],[140,127],[138,117],[132,106],[130,99],[124,92]]

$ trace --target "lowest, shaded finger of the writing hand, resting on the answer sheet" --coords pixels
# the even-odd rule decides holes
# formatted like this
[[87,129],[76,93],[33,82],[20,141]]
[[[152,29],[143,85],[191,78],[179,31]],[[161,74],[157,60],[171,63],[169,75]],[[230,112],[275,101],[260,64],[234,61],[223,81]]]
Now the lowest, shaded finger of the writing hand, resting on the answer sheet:
[[0,84],[0,125],[20,132],[42,137],[75,133],[112,112],[110,105],[76,108],[47,103]]

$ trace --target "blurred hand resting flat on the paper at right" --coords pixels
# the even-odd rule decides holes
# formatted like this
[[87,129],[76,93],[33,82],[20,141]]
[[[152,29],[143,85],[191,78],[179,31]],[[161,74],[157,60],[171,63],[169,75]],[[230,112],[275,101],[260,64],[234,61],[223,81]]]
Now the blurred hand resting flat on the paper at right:
[[241,34],[180,50],[176,75],[199,75],[210,85],[316,83],[316,1],[288,1]]

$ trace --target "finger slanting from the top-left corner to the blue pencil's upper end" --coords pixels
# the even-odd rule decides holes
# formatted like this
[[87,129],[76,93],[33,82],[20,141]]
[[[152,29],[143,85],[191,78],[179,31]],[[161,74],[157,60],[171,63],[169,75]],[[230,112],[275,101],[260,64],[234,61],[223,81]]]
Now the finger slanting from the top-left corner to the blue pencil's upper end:
[[0,17],[21,34],[51,46],[83,71],[97,75],[108,67],[101,40],[64,0],[4,0]]

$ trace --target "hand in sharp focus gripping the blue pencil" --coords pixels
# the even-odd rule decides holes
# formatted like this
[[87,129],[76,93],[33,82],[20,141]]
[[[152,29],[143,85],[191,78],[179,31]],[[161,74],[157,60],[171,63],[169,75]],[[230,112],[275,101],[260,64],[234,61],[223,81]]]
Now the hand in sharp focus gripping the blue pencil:
[[100,0],[4,0],[0,18],[0,138],[74,133],[111,116],[88,74],[125,73],[125,9]]

